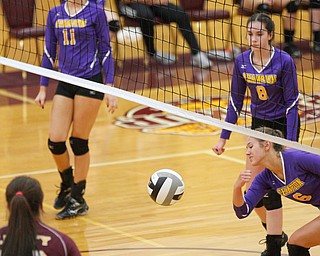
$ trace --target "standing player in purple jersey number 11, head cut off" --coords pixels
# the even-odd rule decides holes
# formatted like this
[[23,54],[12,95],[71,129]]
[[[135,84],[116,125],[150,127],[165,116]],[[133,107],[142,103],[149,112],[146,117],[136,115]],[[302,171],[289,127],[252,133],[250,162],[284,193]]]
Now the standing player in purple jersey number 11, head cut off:
[[[113,86],[114,62],[107,18],[96,3],[68,0],[49,11],[42,67],[53,69],[58,45],[58,66],[62,73],[105,86],[103,70],[105,83]],[[42,108],[48,81],[47,77],[41,76],[40,90],[35,99]],[[88,139],[103,98],[113,113],[118,106],[116,97],[65,82],[58,84],[53,98],[48,139],[48,147],[62,180],[54,208],[64,209],[56,215],[57,219],[84,215],[89,209],[83,198],[90,163]],[[66,147],[69,133],[74,172]]]

